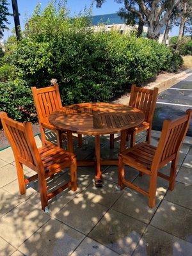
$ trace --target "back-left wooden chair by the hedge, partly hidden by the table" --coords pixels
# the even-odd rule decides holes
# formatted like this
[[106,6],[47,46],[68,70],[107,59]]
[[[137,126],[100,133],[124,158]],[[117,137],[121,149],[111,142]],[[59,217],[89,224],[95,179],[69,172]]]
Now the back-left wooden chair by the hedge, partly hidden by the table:
[[[45,129],[56,132],[58,147],[62,148],[62,135],[65,136],[65,132],[57,130],[52,124],[49,123],[49,115],[56,109],[61,109],[61,97],[58,84],[53,86],[37,89],[31,87],[33,93],[33,99],[35,102],[35,108],[38,115],[38,121],[40,124],[40,133],[42,143],[45,144]],[[78,134],[78,145],[82,146],[82,135]]]

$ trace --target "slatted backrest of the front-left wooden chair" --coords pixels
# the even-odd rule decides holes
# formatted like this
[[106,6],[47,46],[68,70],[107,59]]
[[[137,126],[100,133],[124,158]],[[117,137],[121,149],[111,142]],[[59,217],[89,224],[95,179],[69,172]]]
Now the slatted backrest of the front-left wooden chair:
[[21,124],[8,118],[5,112],[0,112],[0,118],[4,132],[10,141],[15,161],[19,161],[37,171],[38,165],[42,161],[33,137],[31,123],[24,122],[24,124]]

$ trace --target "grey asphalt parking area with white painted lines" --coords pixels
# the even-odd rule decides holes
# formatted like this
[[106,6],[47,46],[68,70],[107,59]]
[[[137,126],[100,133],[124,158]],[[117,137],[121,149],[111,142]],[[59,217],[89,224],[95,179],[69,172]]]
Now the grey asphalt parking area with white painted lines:
[[[175,119],[192,109],[192,75],[159,93],[152,129],[161,131],[164,119]],[[188,136],[192,136],[192,120]]]

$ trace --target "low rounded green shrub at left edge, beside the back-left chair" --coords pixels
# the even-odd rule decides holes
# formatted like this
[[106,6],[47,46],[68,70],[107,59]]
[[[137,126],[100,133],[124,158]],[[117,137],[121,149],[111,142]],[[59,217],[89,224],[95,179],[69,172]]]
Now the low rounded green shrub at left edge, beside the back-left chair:
[[23,82],[0,83],[0,111],[20,121],[35,120],[31,90]]

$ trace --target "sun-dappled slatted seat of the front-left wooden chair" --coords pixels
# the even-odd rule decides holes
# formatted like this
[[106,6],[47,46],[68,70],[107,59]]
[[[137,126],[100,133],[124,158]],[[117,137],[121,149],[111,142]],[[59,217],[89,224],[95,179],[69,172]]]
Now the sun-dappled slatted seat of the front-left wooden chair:
[[76,157],[74,154],[56,147],[52,143],[47,143],[45,146],[38,148],[45,171],[53,171],[70,166],[72,160]]

